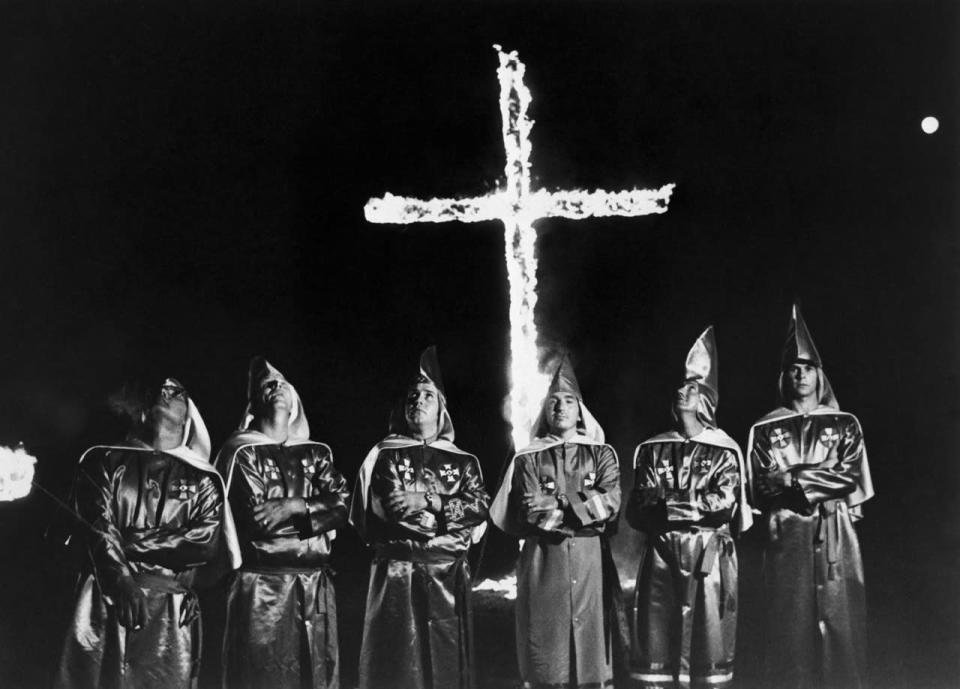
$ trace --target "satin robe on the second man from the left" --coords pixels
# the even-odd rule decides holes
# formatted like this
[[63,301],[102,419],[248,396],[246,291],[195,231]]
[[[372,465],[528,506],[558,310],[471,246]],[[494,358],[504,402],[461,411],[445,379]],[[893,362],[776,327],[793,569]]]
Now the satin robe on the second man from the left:
[[[349,488],[320,443],[241,447],[228,463],[243,566],[227,597],[224,689],[336,689],[337,606],[328,567]],[[266,530],[253,507],[303,498],[307,514]]]

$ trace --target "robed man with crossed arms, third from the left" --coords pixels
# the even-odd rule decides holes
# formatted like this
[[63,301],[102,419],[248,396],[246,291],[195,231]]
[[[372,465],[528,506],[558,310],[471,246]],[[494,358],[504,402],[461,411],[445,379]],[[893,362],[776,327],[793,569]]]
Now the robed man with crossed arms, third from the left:
[[360,689],[474,685],[467,551],[490,498],[477,458],[453,438],[430,347],[354,490],[350,521],[373,548]]

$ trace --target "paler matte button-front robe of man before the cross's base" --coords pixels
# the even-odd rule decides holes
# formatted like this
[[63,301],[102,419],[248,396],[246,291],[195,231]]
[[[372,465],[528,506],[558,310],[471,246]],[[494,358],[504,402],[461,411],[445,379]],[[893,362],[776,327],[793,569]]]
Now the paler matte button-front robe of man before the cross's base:
[[[524,494],[537,492],[566,495],[569,507],[526,511],[521,504]],[[525,523],[516,604],[523,687],[611,686],[612,647],[604,620],[609,592],[604,579],[616,579],[616,572],[612,560],[601,552],[600,539],[620,510],[616,453],[609,445],[558,440],[545,449],[518,454],[510,509],[515,523]]]

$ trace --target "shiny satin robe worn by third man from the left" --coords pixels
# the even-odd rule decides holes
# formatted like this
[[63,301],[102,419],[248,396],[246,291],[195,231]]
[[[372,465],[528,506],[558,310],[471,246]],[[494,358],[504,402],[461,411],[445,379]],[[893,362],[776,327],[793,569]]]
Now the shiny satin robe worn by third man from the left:
[[[433,490],[440,514],[424,510],[395,519],[385,508],[394,490]],[[472,455],[422,444],[380,451],[366,520],[374,557],[360,689],[474,686],[466,556],[489,504]]]

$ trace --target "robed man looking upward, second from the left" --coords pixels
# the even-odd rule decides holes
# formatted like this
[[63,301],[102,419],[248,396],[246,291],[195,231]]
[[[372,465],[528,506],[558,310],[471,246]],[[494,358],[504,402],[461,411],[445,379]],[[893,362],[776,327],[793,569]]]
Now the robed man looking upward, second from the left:
[[243,565],[227,597],[225,689],[335,689],[337,608],[329,558],[347,519],[347,482],[310,440],[296,388],[250,362],[239,430],[217,456]]

